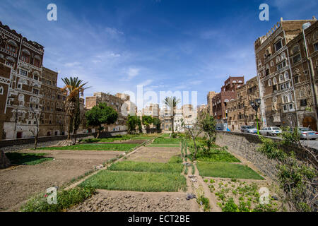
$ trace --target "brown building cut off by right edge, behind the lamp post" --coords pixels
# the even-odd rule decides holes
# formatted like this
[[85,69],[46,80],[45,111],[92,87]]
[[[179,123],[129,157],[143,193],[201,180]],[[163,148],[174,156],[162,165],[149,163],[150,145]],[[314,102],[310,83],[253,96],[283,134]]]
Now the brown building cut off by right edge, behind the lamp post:
[[[291,78],[293,79],[296,121],[289,123],[299,126],[310,126],[317,131],[317,83],[318,83],[318,22],[313,22],[305,30],[306,44],[312,59],[312,72],[310,62],[307,60],[305,42],[302,32],[288,42],[288,54],[291,65]],[[311,76],[313,73],[314,76]],[[313,78],[312,78],[313,77]]]

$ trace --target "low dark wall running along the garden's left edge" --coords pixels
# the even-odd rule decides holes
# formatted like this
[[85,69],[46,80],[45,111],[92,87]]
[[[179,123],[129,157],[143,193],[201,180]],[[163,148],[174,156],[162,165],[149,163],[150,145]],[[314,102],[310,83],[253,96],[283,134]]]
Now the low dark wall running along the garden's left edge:
[[[112,136],[125,135],[127,131],[114,131],[114,132],[102,132],[100,133],[100,138],[107,138]],[[76,135],[76,139],[83,138],[95,138],[97,133],[81,133]],[[37,147],[47,147],[52,145],[57,145],[59,141],[66,140],[67,136],[46,136],[40,137],[37,140]],[[0,149],[5,153],[15,150],[23,150],[34,147],[34,138],[23,138],[23,139],[14,139],[14,140],[4,140],[0,141]]]

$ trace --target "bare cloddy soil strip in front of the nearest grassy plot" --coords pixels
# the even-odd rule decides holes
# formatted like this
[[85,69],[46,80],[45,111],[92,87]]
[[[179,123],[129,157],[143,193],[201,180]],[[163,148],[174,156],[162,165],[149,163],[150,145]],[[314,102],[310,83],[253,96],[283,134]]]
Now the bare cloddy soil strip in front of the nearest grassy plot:
[[69,212],[196,212],[195,199],[182,192],[105,191],[84,201]]

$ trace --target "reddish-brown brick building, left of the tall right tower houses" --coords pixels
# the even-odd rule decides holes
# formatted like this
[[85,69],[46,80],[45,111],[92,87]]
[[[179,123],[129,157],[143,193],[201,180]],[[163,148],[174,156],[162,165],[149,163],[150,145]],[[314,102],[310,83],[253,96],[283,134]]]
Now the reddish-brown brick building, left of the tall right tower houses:
[[228,78],[221,88],[221,92],[212,98],[213,117],[216,118],[218,124],[226,124],[228,114],[226,107],[230,100],[235,100],[236,90],[244,85],[244,76]]

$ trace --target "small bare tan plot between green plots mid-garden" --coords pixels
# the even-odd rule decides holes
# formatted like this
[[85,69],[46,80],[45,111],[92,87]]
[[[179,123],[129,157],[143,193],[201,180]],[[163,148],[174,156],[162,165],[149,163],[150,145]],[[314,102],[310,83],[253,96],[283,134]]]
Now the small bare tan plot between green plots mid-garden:
[[172,156],[180,154],[180,148],[142,147],[130,155],[128,160],[136,162],[169,162]]

